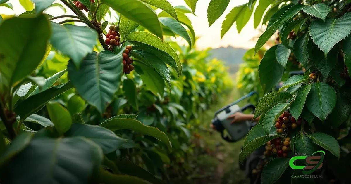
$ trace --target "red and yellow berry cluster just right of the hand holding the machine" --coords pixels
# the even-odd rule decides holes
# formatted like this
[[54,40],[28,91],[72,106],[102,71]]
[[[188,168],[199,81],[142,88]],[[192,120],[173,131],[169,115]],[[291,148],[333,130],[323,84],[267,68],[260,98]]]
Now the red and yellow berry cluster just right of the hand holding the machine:
[[289,127],[291,127],[292,129],[296,129],[297,125],[300,125],[301,123],[301,117],[299,117],[296,121],[295,118],[291,116],[289,111],[285,111],[282,115],[278,117],[274,126],[276,127],[278,134],[284,134],[287,132]]

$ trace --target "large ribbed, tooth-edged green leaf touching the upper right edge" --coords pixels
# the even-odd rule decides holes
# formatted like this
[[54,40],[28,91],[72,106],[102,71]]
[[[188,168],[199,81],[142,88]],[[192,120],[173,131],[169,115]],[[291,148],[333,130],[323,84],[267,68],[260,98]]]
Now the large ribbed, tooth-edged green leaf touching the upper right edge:
[[316,45],[327,55],[336,43],[351,32],[351,13],[342,17],[314,20],[310,25],[310,35]]

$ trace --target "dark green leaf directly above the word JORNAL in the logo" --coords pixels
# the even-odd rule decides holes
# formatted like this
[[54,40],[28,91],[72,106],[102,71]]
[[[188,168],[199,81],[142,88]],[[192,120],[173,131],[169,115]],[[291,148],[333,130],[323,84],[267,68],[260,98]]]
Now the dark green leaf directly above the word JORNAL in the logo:
[[318,146],[304,134],[299,134],[294,143],[295,153],[311,156],[318,150]]

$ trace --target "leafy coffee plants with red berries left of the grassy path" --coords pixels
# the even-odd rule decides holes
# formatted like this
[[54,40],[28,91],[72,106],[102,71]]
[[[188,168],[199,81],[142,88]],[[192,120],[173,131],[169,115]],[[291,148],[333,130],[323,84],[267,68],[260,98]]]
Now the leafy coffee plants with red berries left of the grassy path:
[[[187,176],[194,120],[231,87],[223,63],[194,49],[192,11],[166,0],[32,2],[0,16],[0,183]],[[47,14],[53,6],[74,15]]]

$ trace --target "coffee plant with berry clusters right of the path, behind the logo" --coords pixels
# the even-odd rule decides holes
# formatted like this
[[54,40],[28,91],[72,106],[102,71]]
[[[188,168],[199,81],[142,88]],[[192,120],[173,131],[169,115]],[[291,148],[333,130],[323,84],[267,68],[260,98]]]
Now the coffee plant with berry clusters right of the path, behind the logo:
[[[207,10],[210,25],[229,2],[211,0]],[[221,36],[234,22],[240,32],[252,14],[255,28],[261,22],[266,26],[254,54],[272,36],[278,43],[265,52],[259,63],[258,79],[266,95],[254,112],[254,118],[260,120],[246,136],[239,155],[243,162],[266,145],[264,166],[253,171],[259,175],[257,183],[350,182],[350,2],[249,0],[226,15]],[[291,66],[301,68],[304,75],[285,79],[289,71],[296,70]],[[280,81],[285,83],[275,90]],[[302,170],[289,167],[294,155],[310,156],[318,150],[325,151],[325,158],[321,159],[322,168],[312,174],[305,176]]]

